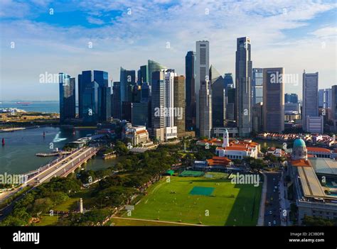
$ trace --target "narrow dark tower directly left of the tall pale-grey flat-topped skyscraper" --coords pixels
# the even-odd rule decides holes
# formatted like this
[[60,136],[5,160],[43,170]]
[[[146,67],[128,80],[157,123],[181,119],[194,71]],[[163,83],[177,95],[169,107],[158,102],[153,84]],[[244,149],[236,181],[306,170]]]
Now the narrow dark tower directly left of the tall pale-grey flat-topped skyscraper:
[[196,128],[196,79],[194,66],[196,52],[188,51],[185,57],[186,73],[186,130],[194,131]]

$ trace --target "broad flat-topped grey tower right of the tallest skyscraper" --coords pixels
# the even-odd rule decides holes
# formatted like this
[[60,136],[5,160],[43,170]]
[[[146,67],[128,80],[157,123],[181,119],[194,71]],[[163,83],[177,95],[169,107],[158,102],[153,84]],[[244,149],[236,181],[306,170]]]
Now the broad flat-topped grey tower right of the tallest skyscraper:
[[263,129],[284,131],[284,68],[263,69]]

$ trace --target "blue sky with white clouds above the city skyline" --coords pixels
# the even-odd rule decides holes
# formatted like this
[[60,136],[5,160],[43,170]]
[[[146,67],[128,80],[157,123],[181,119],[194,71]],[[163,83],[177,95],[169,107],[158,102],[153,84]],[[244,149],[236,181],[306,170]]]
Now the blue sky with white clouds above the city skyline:
[[236,39],[251,40],[253,67],[284,67],[298,81],[319,72],[319,88],[337,84],[336,1],[304,0],[0,0],[0,101],[58,99],[41,74],[119,68],[155,60],[185,74],[185,56],[209,40],[210,65],[235,76]]

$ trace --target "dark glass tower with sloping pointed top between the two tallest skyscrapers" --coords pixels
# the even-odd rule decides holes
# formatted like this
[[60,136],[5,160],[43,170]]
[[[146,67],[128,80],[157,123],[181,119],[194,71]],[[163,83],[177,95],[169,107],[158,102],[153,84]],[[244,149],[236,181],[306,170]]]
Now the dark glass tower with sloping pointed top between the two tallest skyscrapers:
[[224,127],[226,117],[226,91],[223,77],[210,66],[210,87],[212,89],[212,126]]

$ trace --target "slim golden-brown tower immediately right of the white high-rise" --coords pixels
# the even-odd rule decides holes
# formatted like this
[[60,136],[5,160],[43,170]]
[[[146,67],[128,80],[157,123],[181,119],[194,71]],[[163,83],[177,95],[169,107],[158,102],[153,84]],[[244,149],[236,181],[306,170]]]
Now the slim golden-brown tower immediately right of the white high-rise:
[[177,127],[178,138],[185,135],[185,77],[183,75],[174,77],[174,126]]

